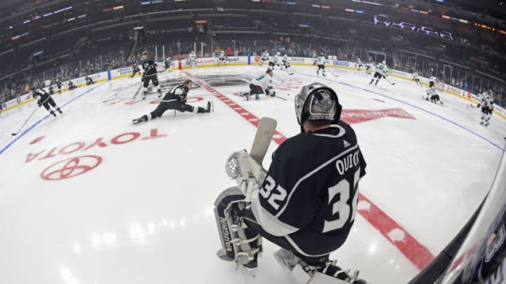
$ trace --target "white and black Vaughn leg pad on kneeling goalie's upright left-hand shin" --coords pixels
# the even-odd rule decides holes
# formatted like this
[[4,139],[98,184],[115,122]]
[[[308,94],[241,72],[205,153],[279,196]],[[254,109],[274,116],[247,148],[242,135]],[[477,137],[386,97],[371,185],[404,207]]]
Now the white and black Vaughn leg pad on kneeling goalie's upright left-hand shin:
[[238,187],[223,191],[214,202],[214,215],[222,248],[219,258],[246,265],[260,254],[261,236],[242,222],[245,196]]

